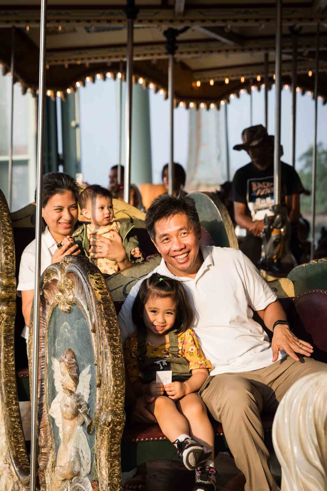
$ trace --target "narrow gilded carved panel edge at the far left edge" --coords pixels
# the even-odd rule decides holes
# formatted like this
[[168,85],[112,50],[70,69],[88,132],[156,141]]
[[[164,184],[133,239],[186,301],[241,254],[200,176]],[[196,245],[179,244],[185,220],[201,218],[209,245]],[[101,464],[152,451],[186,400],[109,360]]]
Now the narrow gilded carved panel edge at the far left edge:
[[0,489],[26,490],[29,459],[18,403],[14,325],[16,280],[14,238],[6,199],[0,191]]

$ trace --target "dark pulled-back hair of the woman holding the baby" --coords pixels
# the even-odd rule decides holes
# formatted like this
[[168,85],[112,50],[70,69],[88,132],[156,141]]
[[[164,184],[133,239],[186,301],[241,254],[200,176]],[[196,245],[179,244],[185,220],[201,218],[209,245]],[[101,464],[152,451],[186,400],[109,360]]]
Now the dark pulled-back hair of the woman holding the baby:
[[[78,202],[79,198],[79,187],[71,176],[64,174],[63,172],[48,172],[43,176],[43,189],[42,189],[42,208],[44,208],[49,199],[54,196],[54,194],[62,194],[66,191],[72,191]],[[36,201],[36,190],[35,197]],[[42,218],[42,232],[45,231],[47,224]]]

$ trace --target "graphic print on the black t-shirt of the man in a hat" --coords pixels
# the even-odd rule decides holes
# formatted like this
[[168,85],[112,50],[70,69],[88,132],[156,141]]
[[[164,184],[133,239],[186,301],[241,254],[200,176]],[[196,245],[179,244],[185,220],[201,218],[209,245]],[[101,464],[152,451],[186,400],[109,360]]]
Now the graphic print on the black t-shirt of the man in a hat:
[[273,215],[270,211],[274,204],[273,176],[248,179],[246,201],[253,221],[263,220],[265,215]]

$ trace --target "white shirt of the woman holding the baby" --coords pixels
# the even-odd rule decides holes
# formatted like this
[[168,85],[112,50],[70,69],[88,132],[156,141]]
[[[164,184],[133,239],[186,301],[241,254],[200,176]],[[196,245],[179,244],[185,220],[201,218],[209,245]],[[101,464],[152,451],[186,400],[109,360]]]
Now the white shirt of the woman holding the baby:
[[[52,256],[57,249],[57,243],[46,227],[41,236],[41,274],[51,265]],[[19,266],[17,295],[22,296],[25,290],[34,290],[35,276],[35,239],[25,247]],[[25,326],[22,336],[28,339],[28,327]]]

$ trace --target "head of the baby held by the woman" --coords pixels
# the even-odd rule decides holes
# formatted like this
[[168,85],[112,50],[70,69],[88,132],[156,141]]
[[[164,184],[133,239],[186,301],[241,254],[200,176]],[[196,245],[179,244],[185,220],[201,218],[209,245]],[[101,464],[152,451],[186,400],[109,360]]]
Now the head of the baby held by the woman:
[[113,206],[111,192],[93,184],[81,192],[79,205],[82,215],[91,221],[93,225],[105,227],[113,218]]

